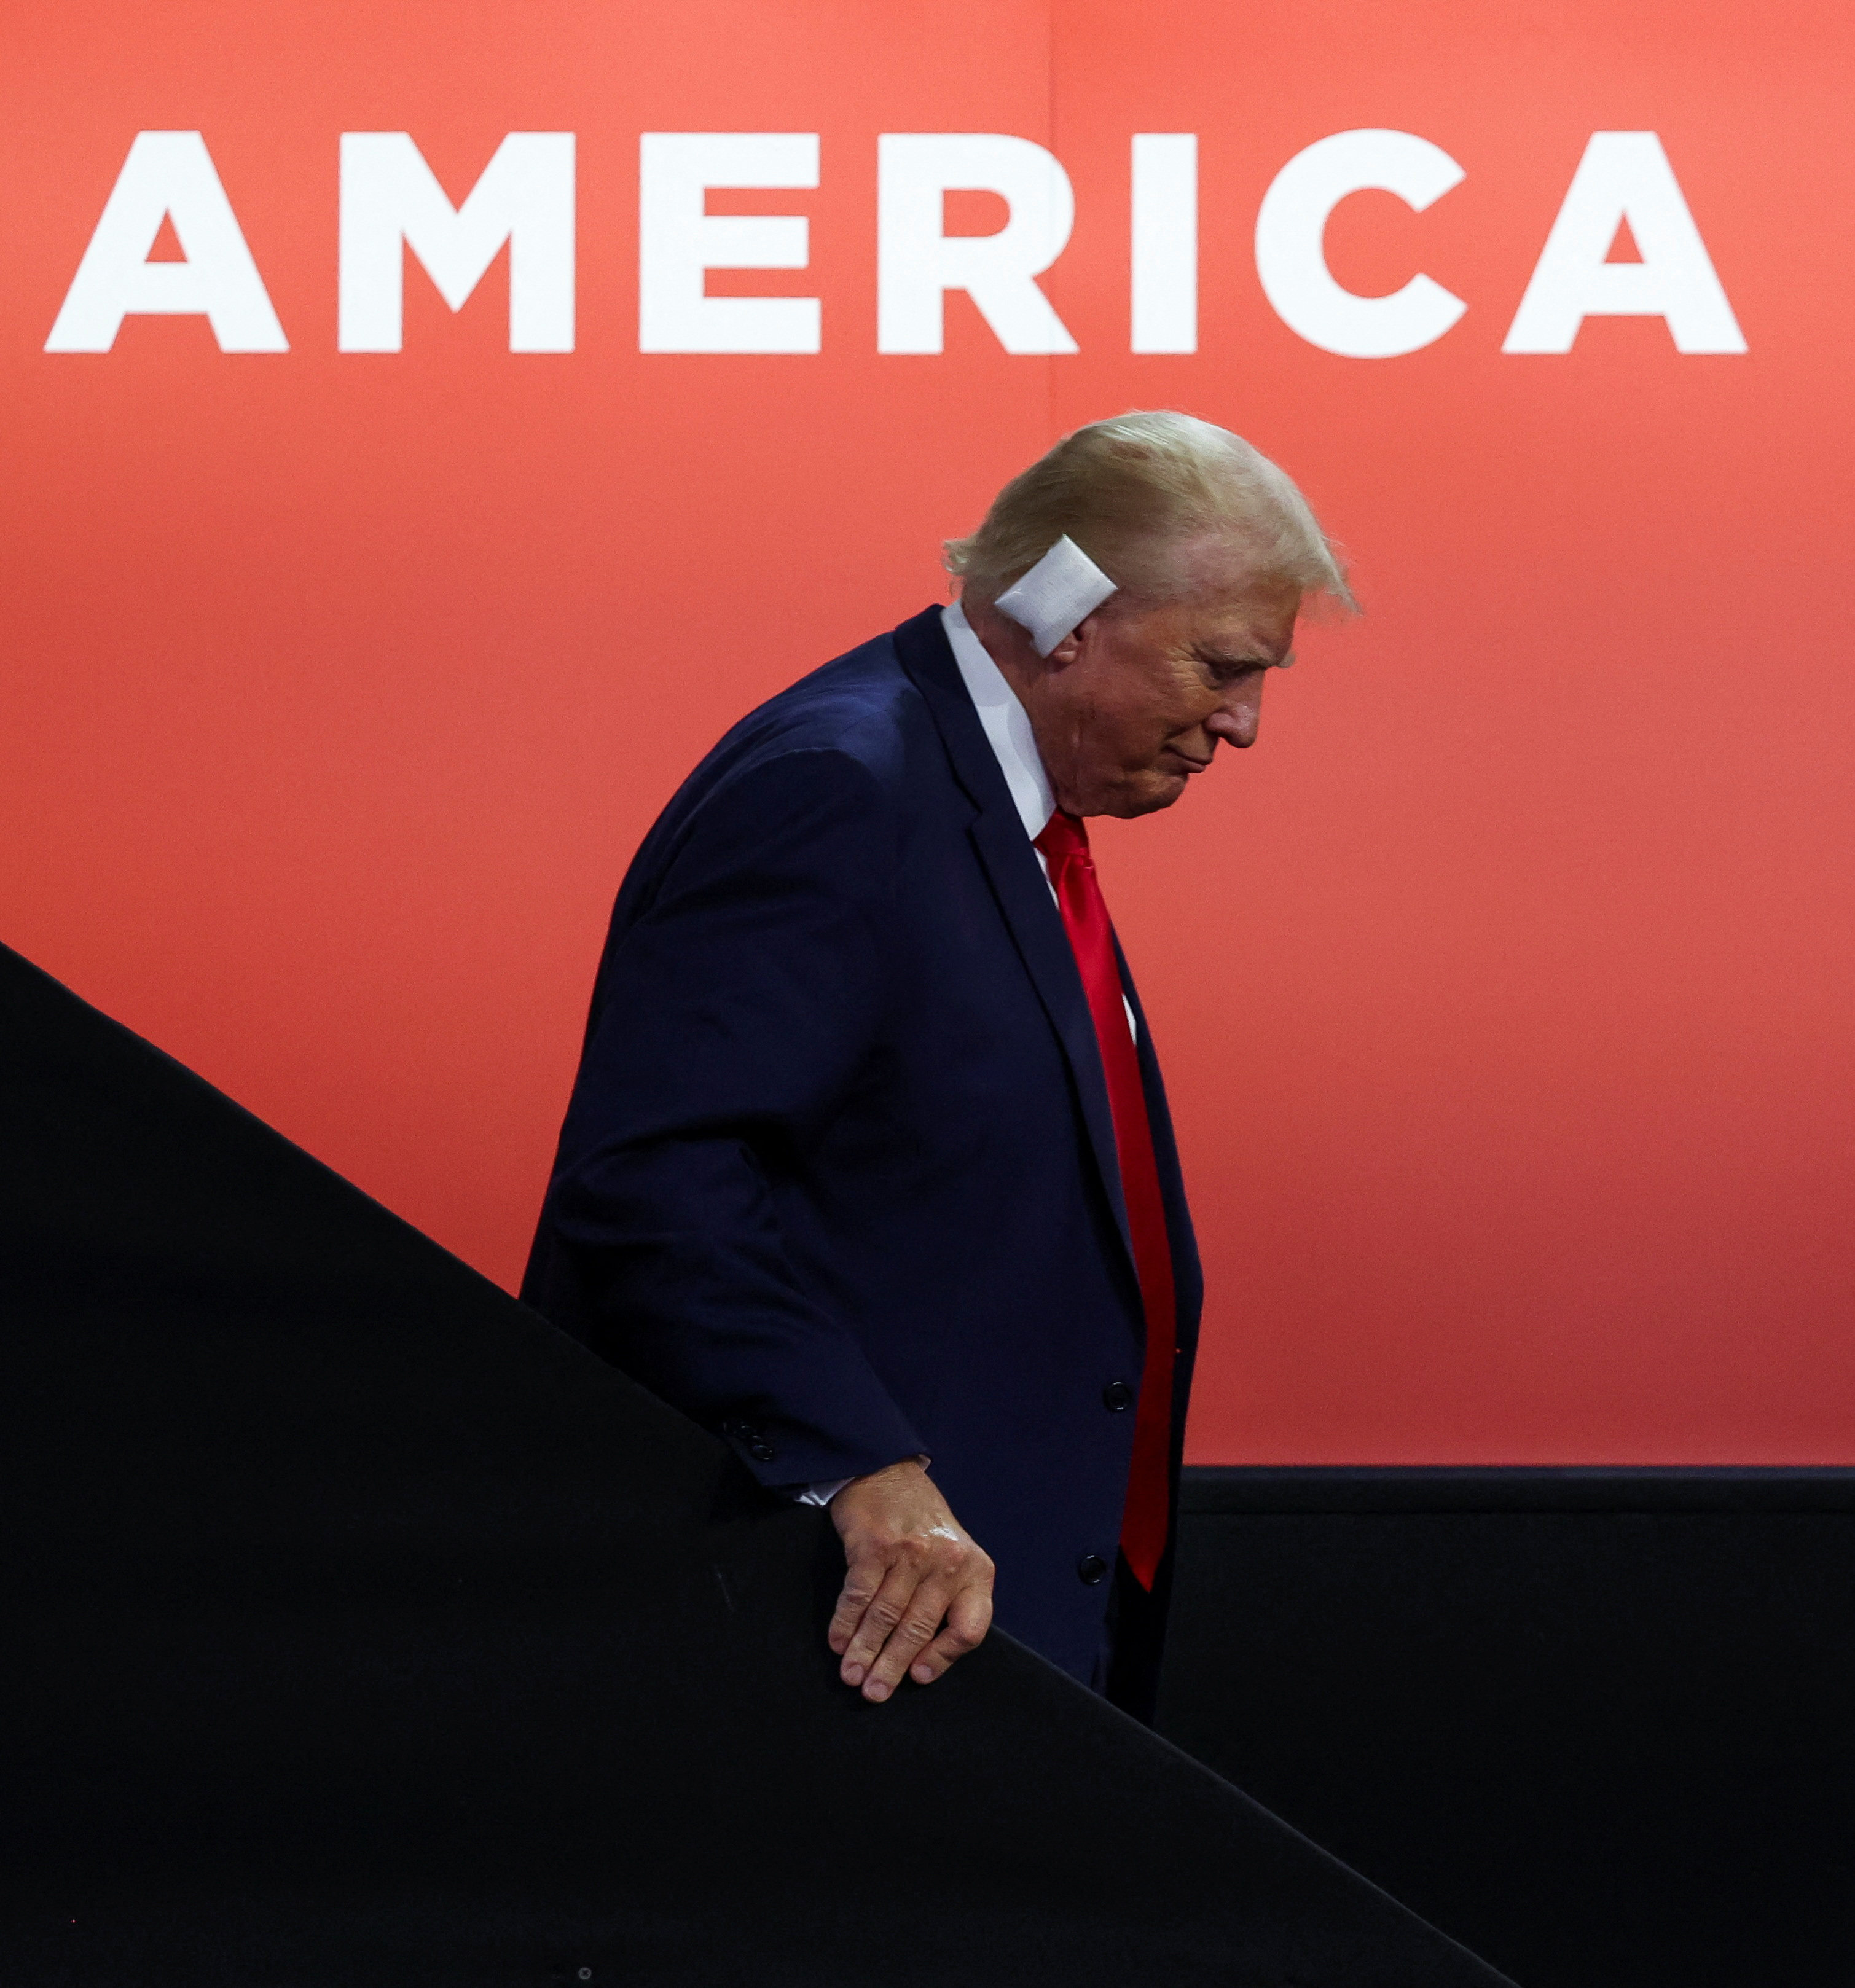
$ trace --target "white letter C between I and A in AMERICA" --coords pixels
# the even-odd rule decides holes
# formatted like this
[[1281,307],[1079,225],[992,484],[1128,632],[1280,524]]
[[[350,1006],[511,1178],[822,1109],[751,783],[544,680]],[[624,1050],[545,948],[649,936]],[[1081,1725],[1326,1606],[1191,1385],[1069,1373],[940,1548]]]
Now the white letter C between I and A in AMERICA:
[[1257,211],[1257,274],[1282,324],[1350,360],[1392,360],[1435,344],[1469,308],[1459,296],[1428,276],[1412,276],[1392,296],[1356,296],[1334,282],[1322,237],[1348,193],[1396,193],[1422,215],[1463,177],[1441,145],[1410,131],[1336,131],[1298,151]]

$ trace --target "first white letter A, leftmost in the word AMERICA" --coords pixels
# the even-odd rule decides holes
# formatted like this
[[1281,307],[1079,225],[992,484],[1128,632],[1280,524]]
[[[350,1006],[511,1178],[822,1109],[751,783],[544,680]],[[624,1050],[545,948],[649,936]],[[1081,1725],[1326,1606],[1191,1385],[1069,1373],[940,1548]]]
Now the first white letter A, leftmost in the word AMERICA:
[[[149,262],[161,221],[185,262]],[[137,131],[46,352],[107,352],[127,316],[205,316],[221,352],[288,352],[199,131]]]

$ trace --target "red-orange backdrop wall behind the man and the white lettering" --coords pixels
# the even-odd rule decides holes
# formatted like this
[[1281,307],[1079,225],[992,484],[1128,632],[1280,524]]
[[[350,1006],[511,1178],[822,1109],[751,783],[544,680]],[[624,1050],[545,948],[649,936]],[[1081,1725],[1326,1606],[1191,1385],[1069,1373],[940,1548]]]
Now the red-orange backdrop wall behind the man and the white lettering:
[[[624,861],[748,706],[942,592],[1078,421],[1276,455],[1368,614],[1263,744],[1103,829],[1211,1280],[1199,1461],[1855,1461],[1845,656],[1855,185],[1829,6],[70,4],[0,64],[0,936],[513,1282]],[[1332,131],[1467,171],[1328,258],[1467,300],[1346,360],[1255,274]],[[46,332],[139,129],[199,129],[290,334]],[[461,199],[579,133],[579,348],[507,256],[336,352],[336,145]],[[636,350],[642,129],[823,135],[813,358]],[[1750,352],[1501,336],[1591,131],[1658,131]],[[1074,358],[875,352],[879,131],[1078,195]],[[1127,141],[1197,131],[1201,350],[1127,352]],[[992,225],[984,217],[970,225]]]

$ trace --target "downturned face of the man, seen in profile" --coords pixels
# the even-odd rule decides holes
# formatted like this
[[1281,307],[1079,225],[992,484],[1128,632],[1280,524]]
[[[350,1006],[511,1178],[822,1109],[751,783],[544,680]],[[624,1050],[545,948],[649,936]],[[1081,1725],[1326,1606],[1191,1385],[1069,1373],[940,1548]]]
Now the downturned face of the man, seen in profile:
[[1219,744],[1253,746],[1265,672],[1290,658],[1298,610],[1294,588],[1211,579],[1165,606],[1092,614],[1018,684],[1058,805],[1151,815]]

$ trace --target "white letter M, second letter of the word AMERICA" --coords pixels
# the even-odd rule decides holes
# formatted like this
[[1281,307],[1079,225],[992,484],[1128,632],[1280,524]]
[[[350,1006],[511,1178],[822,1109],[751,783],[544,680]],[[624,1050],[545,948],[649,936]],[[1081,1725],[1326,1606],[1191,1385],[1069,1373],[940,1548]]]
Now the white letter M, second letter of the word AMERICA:
[[406,131],[342,133],[342,352],[398,352],[404,248],[461,310],[509,243],[509,350],[573,352],[573,133],[511,131],[451,207]]

